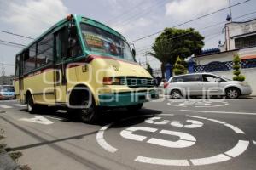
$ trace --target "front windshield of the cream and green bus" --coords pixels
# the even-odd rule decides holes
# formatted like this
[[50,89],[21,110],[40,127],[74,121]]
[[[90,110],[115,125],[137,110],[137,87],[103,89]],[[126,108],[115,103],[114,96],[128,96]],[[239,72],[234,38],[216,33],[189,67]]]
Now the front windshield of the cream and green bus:
[[121,59],[134,61],[131,48],[122,38],[88,24],[81,24],[81,28],[84,43],[90,51],[111,54]]

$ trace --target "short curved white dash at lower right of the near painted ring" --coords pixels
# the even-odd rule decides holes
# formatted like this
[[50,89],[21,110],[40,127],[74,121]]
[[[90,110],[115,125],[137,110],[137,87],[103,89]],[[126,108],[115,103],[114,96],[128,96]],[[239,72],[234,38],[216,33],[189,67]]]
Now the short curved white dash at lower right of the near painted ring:
[[235,147],[225,152],[225,155],[228,155],[231,157],[240,156],[245,150],[247,150],[247,147],[249,146],[249,144],[250,143],[247,140],[239,140]]

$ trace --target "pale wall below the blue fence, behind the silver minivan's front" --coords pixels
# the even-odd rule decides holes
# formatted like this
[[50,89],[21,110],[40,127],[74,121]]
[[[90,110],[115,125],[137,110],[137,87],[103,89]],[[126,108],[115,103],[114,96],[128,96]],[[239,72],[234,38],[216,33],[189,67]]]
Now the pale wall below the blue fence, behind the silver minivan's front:
[[[217,74],[222,77],[227,77],[232,79],[233,78],[233,71],[216,71],[212,72],[213,74]],[[241,74],[246,77],[246,82],[248,82],[253,89],[253,94],[256,95],[256,68],[250,68],[250,69],[241,69]]]

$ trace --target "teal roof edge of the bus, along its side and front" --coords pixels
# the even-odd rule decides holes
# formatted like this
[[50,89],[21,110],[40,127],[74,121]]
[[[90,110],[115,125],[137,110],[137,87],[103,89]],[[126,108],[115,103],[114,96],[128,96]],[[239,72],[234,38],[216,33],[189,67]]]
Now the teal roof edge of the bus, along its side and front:
[[[112,28],[110,28],[109,26],[106,26],[104,24],[102,24],[101,22],[98,22],[96,20],[92,20],[90,18],[84,17],[82,15],[78,15],[78,14],[72,14],[74,20],[76,20],[77,22],[82,22],[82,23],[87,23],[99,28],[102,28],[105,31],[108,31],[112,34],[114,34],[115,36],[121,37],[123,40],[126,41],[125,37],[123,37],[118,31],[113,30]],[[23,51],[26,50],[26,48],[29,48],[34,42],[37,42],[39,39],[41,39],[42,37],[44,37],[46,34],[48,34],[50,31],[54,31],[55,28],[57,28],[58,26],[63,25],[65,22],[67,22],[67,18],[64,18],[60,21],[58,21],[57,23],[55,23],[55,25],[49,27],[49,29],[47,29],[46,31],[44,31],[44,33],[42,33],[39,37],[35,38],[32,42],[30,42],[28,45],[26,45],[25,48],[23,48],[22,50],[20,50],[18,54],[21,54]]]

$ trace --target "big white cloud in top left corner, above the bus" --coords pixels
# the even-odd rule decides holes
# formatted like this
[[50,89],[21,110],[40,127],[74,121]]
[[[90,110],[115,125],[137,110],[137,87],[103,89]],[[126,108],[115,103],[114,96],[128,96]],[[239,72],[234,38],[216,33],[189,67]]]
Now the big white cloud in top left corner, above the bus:
[[40,35],[67,15],[67,7],[61,0],[28,0],[23,4],[9,3],[3,20],[20,34]]

